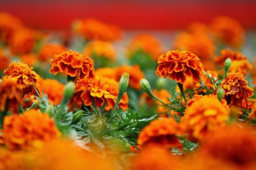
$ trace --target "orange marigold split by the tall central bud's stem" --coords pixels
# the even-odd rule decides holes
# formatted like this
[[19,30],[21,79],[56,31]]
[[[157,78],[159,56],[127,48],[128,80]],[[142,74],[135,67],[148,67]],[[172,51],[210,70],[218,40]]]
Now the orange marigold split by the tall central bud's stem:
[[[109,78],[103,78],[103,80],[105,80],[105,82],[109,83],[109,87],[106,88],[106,91],[108,91],[110,94],[112,94],[114,96],[114,99],[117,100],[117,96],[118,96],[118,82],[114,79],[109,79]],[[119,101],[119,108],[125,110],[128,108],[128,104],[129,104],[129,97],[127,95],[127,93],[125,92],[125,94],[123,95],[122,99]]]

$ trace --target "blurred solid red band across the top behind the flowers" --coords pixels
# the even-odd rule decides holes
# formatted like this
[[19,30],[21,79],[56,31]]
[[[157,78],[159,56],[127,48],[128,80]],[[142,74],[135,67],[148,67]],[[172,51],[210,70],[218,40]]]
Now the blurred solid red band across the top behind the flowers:
[[256,1],[0,1],[0,11],[10,12],[33,28],[67,30],[76,18],[93,17],[124,29],[179,29],[197,20],[208,23],[217,15],[237,19],[256,28]]

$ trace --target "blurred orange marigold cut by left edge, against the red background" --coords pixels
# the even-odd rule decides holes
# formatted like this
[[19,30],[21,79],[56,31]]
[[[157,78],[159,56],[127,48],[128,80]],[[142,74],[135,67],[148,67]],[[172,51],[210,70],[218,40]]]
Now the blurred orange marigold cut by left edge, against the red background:
[[0,12],[0,39],[8,42],[14,31],[22,28],[22,22],[13,15]]

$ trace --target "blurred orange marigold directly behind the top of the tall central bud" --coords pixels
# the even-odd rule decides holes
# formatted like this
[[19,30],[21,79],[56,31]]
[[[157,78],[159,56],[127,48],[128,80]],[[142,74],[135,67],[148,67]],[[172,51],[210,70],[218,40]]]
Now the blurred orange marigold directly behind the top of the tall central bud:
[[141,82],[141,79],[144,78],[144,74],[141,71],[140,67],[138,65],[133,65],[133,66],[129,66],[129,65],[122,65],[122,66],[118,66],[115,67],[115,73],[117,75],[117,81],[119,82],[119,80],[122,77],[123,73],[128,73],[130,75],[129,78],[129,87],[131,88],[135,88],[136,90],[139,90],[141,88],[141,85],[139,84]]

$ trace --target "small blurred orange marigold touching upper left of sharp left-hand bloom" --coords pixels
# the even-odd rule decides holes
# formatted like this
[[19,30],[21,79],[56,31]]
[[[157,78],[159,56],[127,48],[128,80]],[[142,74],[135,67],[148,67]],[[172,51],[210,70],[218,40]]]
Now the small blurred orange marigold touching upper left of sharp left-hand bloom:
[[44,44],[39,52],[38,57],[40,61],[46,62],[56,54],[66,52],[67,48],[60,44]]

